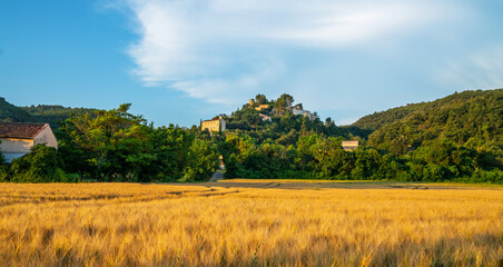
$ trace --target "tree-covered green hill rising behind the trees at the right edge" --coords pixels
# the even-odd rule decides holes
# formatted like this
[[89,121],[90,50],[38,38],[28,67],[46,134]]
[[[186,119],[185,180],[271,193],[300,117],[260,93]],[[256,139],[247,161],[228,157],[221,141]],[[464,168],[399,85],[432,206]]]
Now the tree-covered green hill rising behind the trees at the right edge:
[[436,139],[477,150],[501,150],[503,89],[464,91],[394,108],[363,117],[354,126],[375,129],[368,145],[395,154]]

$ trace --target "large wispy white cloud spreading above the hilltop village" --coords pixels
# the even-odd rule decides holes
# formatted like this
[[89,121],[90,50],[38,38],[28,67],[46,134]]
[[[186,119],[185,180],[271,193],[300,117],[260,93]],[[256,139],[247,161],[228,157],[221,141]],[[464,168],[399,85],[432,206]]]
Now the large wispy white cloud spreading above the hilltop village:
[[147,86],[210,102],[241,102],[264,91],[288,69],[270,50],[373,46],[445,19],[453,10],[430,0],[124,1],[139,36],[128,51],[134,72]]

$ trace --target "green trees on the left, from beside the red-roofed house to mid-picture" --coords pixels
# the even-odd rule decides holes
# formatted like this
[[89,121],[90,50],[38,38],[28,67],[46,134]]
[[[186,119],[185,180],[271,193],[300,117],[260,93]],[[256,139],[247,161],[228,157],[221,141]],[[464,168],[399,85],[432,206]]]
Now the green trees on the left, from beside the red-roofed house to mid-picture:
[[[177,181],[201,180],[218,167],[216,144],[197,129],[155,128],[130,105],[76,115],[56,131],[59,148],[38,145],[2,165],[3,181]],[[68,175],[72,174],[72,175]]]

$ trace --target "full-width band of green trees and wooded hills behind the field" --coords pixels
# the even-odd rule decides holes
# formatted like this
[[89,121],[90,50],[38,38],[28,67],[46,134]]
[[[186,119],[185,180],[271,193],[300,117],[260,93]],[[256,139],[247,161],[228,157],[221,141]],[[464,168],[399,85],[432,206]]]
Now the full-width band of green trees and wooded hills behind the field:
[[[226,178],[503,182],[502,100],[501,89],[454,93],[375,113],[374,130],[361,128],[368,118],[338,127],[331,118],[293,115],[289,95],[257,95],[223,116],[228,130],[211,134],[196,126],[156,128],[121,105],[68,118],[56,131],[58,150],[34,147],[3,164],[0,179],[204,180],[221,156]],[[346,151],[344,140],[359,147]]]

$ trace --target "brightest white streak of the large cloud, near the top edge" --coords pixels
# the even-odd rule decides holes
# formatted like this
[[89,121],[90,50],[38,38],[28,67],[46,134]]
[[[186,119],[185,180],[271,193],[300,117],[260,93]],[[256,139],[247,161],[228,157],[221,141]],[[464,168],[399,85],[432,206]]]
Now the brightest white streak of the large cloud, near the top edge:
[[413,30],[437,16],[435,9],[417,3],[325,3],[325,7],[312,10],[300,27],[270,32],[269,37],[299,41],[310,47],[351,46]]

